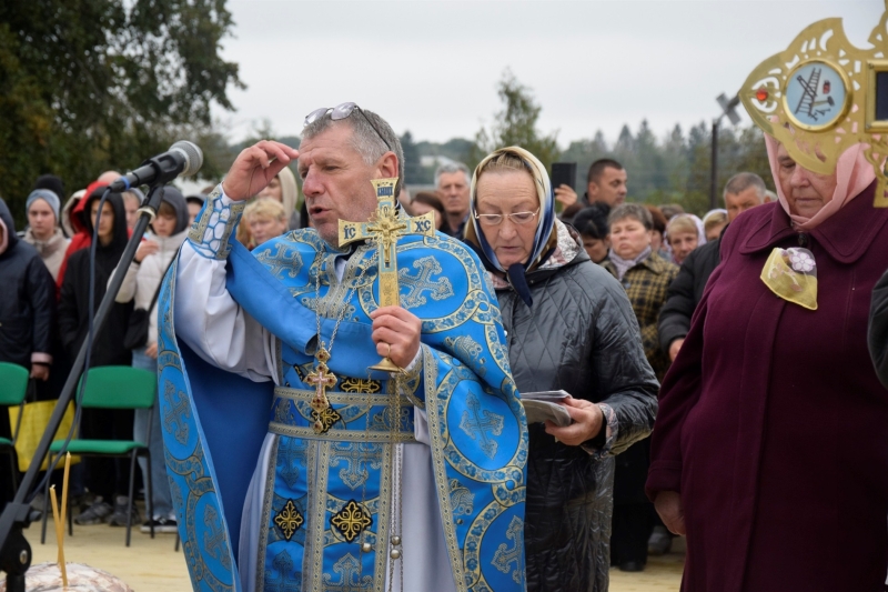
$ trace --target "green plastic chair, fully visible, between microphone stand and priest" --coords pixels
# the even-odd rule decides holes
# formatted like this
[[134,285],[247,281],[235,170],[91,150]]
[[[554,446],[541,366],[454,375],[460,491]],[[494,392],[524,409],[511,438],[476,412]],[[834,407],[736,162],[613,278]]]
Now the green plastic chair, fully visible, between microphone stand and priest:
[[[82,378],[81,378],[82,381]],[[80,389],[78,387],[78,393]],[[83,409],[152,409],[155,404],[158,392],[158,377],[148,370],[132,368],[129,365],[103,365],[89,370],[87,388],[83,392],[81,407]],[[151,466],[151,451],[149,444],[151,439],[151,428],[154,414],[149,414],[148,438],[149,442],[137,442],[134,440],[83,440],[79,437],[72,439],[68,444],[68,452],[81,456],[124,456],[130,459],[130,492],[129,506],[127,508],[127,546],[130,546],[130,534],[132,530],[132,504],[133,485],[135,480],[135,465],[140,456],[148,459]],[[80,434],[80,425],[77,427],[77,434]],[[49,462],[53,462],[53,455],[61,453],[64,440],[56,440],[50,445]],[[49,482],[47,483],[49,488]],[[148,471],[148,508],[154,508],[154,500],[151,495],[151,471]],[[49,499],[49,491],[47,491]],[[69,504],[70,508],[70,504]],[[154,538],[154,526],[151,525],[151,538]],[[47,539],[47,508],[43,509],[43,532],[40,542]]]

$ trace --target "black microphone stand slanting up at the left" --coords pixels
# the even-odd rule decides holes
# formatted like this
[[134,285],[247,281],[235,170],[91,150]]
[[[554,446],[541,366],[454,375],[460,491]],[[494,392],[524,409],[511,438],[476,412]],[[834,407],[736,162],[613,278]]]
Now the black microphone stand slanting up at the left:
[[[127,248],[120,257],[120,263],[118,263],[108,291],[104,293],[104,298],[102,298],[99,311],[95,313],[93,339],[101,332],[102,325],[108,319],[108,313],[114,304],[114,298],[120,291],[120,285],[123,283],[123,278],[127,275],[127,270],[135,258],[135,250],[142,241],[142,235],[148,224],[158,214],[158,208],[160,208],[162,197],[163,184],[158,183],[152,185],[144,203],[139,209],[139,220],[135,222],[132,237],[130,237],[130,241],[127,243]],[[59,395],[59,401],[56,403],[56,409],[52,411],[47,429],[43,431],[40,444],[38,444],[34,451],[31,464],[28,466],[28,472],[24,474],[24,479],[22,479],[21,485],[19,485],[19,490],[16,492],[14,500],[9,502],[3,509],[3,513],[0,514],[0,570],[7,573],[7,592],[26,592],[24,574],[28,568],[31,566],[31,545],[28,544],[22,529],[29,526],[31,523],[29,520],[31,506],[26,503],[24,500],[37,480],[40,464],[49,452],[49,446],[52,443],[56,431],[59,429],[65,409],[68,409],[68,403],[74,395],[81,371],[83,371],[83,362],[87,358],[88,347],[89,338],[84,340],[83,344],[80,347],[80,352],[77,355],[74,365],[71,369],[71,373],[68,374],[68,380]],[[62,454],[58,458],[61,459]],[[51,466],[47,466],[47,479],[49,479],[51,469]]]

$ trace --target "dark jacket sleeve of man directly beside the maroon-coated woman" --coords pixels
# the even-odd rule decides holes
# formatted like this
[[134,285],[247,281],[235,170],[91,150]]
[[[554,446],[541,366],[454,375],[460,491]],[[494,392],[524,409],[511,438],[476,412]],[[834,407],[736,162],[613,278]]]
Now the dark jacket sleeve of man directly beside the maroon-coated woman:
[[722,262],[720,249],[722,238],[718,238],[690,251],[666,291],[666,303],[659,313],[657,331],[659,347],[667,357],[672,342],[685,339],[690,330],[690,318],[703,298],[706,282]]

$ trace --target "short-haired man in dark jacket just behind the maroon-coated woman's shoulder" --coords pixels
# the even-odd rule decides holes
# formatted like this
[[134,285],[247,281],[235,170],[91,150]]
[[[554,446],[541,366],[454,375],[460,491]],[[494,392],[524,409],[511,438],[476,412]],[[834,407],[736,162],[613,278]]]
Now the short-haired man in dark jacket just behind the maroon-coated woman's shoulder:
[[[740,172],[731,177],[724,193],[728,223],[746,210],[767,203],[769,199],[766,191],[765,181],[754,172]],[[659,313],[658,333],[660,348],[668,353],[669,360],[678,355],[706,282],[722,262],[720,248],[722,239],[718,238],[692,251],[682,262],[678,275],[666,292],[666,304]]]

